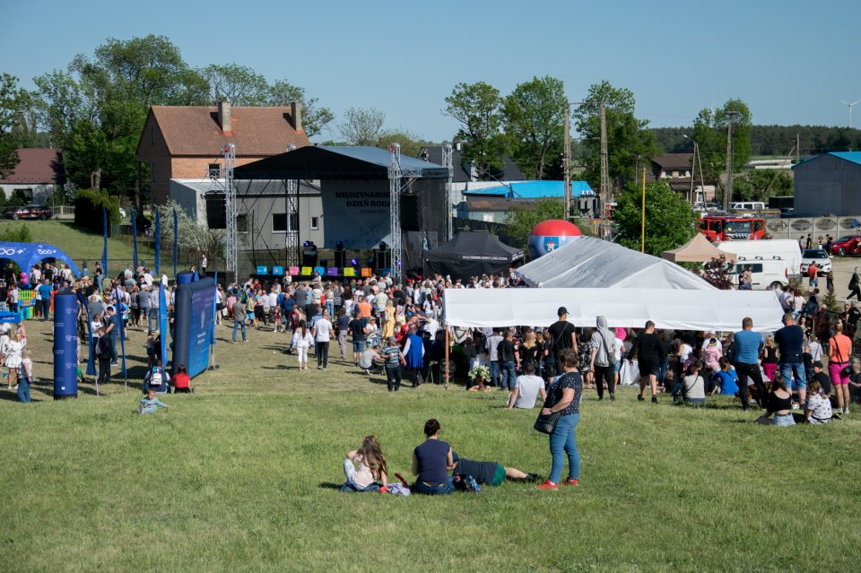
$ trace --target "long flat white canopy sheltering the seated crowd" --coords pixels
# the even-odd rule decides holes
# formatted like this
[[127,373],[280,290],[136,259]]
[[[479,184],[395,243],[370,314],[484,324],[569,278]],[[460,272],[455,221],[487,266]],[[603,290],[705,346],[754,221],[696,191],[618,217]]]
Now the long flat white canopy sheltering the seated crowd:
[[751,317],[757,332],[780,328],[783,310],[774,291],[686,289],[446,289],[449,326],[551,326],[560,307],[575,326],[642,328],[647,320],[674,330],[741,330]]

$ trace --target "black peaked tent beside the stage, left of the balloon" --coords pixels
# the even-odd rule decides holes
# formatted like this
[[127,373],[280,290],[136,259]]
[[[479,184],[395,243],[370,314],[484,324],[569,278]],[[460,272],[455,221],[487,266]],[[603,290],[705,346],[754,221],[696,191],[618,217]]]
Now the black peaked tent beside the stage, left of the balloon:
[[468,280],[483,274],[500,274],[523,262],[523,250],[509,247],[486,231],[462,231],[444,245],[424,252],[426,275],[450,274]]

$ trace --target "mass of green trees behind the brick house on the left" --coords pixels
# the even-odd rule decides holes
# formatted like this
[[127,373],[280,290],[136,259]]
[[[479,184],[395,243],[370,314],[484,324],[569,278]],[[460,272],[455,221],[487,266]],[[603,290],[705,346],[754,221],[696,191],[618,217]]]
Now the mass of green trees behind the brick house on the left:
[[139,191],[135,152],[150,106],[222,100],[235,106],[286,106],[301,101],[309,136],[334,118],[317,98],[286,80],[267,82],[236,64],[192,67],[164,36],[107,39],[91,55],[78,54],[65,69],[36,76],[33,82],[36,89],[26,91],[18,78],[0,77],[0,169],[14,168],[18,147],[50,145],[63,151],[68,181],[117,195]]

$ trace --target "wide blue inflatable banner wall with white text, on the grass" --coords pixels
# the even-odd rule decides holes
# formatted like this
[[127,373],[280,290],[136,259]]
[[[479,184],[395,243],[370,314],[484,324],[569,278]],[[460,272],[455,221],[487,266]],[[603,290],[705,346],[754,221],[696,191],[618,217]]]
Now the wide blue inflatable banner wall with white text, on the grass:
[[176,374],[185,364],[188,376],[194,378],[209,366],[209,346],[213,335],[213,299],[215,281],[204,278],[177,288],[174,315],[173,360]]

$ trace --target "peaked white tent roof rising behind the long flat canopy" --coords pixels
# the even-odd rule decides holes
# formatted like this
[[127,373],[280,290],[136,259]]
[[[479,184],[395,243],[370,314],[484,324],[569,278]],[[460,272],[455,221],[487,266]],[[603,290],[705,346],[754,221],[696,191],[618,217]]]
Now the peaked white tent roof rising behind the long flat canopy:
[[718,290],[679,265],[594,237],[575,237],[517,273],[529,286],[541,288]]

